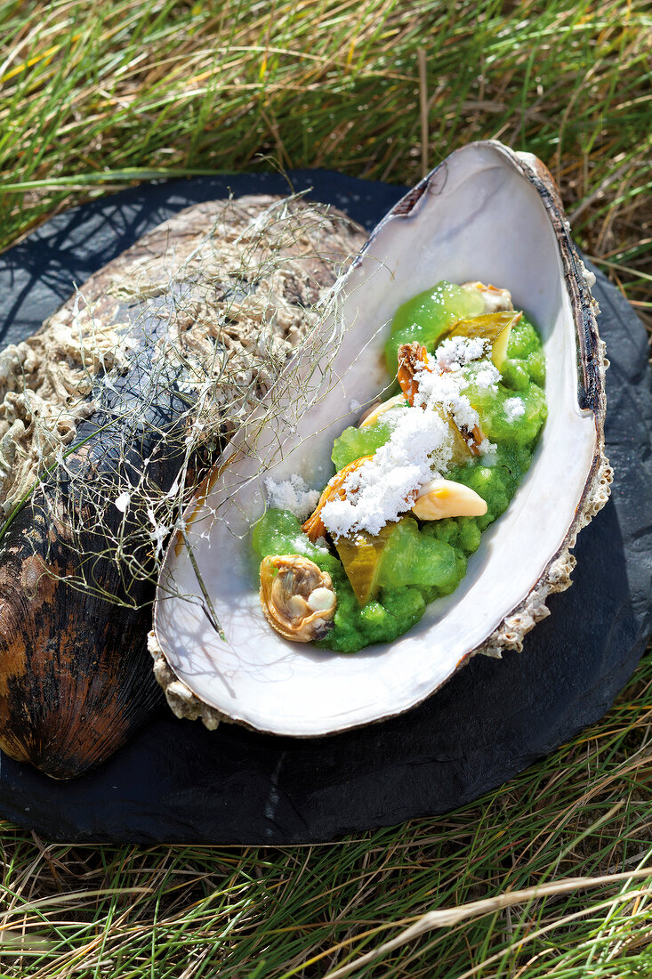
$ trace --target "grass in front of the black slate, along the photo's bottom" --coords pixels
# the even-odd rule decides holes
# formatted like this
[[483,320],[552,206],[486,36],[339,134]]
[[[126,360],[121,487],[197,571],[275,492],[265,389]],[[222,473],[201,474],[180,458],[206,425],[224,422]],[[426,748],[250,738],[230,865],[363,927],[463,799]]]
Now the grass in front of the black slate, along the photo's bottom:
[[333,844],[47,845],[5,825],[3,974],[652,974],[651,722],[648,658],[602,723],[509,785]]

